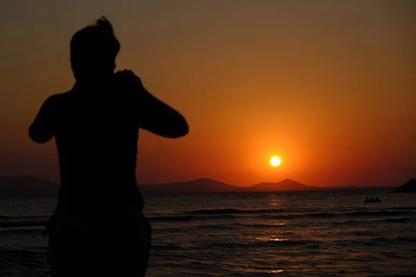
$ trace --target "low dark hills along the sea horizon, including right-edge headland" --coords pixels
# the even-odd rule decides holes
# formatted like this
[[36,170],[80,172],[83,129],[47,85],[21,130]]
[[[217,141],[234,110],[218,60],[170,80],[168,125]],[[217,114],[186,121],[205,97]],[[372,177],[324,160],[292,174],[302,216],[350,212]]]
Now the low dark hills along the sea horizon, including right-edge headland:
[[[404,188],[402,188],[404,187]],[[411,187],[411,188],[410,188]],[[317,187],[306,186],[292,179],[276,183],[259,183],[253,186],[232,186],[213,179],[202,178],[168,184],[139,185],[141,193],[216,193],[216,192],[256,192],[256,191],[296,191],[296,190],[365,190],[359,186]],[[416,180],[410,179],[397,192],[415,190]],[[0,196],[2,195],[55,195],[59,185],[37,177],[0,177]]]

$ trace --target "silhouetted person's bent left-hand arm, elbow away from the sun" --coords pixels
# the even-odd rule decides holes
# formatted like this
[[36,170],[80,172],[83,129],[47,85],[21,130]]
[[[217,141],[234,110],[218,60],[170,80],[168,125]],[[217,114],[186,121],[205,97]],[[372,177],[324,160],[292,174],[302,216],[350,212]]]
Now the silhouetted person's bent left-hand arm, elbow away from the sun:
[[56,96],[51,96],[40,107],[39,113],[29,127],[29,136],[32,141],[46,143],[55,135],[55,102]]

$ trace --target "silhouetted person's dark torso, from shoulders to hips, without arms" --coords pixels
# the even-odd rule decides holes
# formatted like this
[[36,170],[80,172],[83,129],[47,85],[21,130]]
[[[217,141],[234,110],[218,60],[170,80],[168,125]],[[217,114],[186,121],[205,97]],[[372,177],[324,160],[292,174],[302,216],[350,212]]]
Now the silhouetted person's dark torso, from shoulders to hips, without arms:
[[135,180],[137,103],[131,93],[109,81],[100,87],[76,85],[61,95],[55,120],[61,174],[58,208],[142,208]]

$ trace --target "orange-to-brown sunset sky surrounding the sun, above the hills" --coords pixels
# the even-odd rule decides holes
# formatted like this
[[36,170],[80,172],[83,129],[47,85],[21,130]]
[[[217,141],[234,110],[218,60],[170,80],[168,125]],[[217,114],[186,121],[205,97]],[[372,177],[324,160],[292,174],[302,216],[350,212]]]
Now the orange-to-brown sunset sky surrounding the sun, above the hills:
[[[71,89],[69,40],[105,15],[132,69],[182,112],[183,139],[141,132],[140,183],[399,186],[416,177],[414,1],[1,1],[0,175],[58,181],[27,129]],[[281,166],[272,168],[272,155]]]

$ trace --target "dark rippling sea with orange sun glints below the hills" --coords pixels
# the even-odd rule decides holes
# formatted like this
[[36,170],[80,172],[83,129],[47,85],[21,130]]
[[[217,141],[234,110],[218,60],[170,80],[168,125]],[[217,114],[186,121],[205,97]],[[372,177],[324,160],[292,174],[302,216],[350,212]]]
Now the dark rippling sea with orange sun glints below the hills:
[[[153,228],[146,276],[416,276],[415,196],[144,195]],[[55,204],[55,195],[0,197],[0,276],[49,276],[42,232]]]

